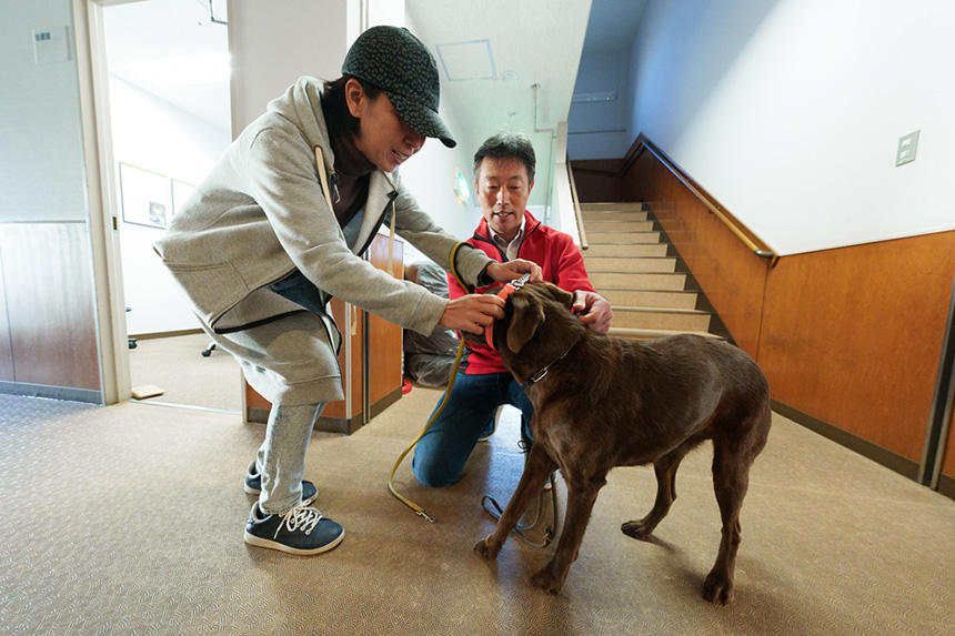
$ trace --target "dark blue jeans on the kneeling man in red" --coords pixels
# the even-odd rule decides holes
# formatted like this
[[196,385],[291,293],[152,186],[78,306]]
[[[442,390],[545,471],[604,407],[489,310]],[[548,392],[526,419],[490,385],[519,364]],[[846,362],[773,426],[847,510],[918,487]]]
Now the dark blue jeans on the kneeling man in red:
[[[435,411],[443,401],[444,397]],[[458,482],[478,438],[501,404],[521,410],[521,437],[531,440],[529,425],[534,407],[510,373],[468,375],[459,371],[448,405],[414,447],[411,467],[415,478],[435,488]]]

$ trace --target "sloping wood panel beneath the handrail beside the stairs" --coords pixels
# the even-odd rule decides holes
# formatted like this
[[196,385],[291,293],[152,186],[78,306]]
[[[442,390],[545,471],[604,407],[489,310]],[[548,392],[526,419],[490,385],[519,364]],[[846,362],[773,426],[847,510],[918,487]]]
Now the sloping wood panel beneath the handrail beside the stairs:
[[624,174],[624,199],[649,204],[733,340],[758,355],[768,261],[756,256],[650,152]]

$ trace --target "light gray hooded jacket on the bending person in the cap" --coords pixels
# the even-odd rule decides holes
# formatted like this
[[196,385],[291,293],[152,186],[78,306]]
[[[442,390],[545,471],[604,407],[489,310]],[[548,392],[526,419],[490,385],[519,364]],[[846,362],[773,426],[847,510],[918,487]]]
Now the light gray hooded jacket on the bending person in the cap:
[[[315,147],[324,165],[316,165]],[[242,131],[175,214],[154,249],[210,329],[237,331],[301,311],[268,287],[299,270],[323,299],[340,297],[423,334],[434,330],[448,300],[359,254],[392,210],[398,234],[442,267],[450,267],[458,241],[421,210],[398,172],[375,170],[350,248],[321,185],[319,170],[334,184],[333,165],[321,82],[301,78]],[[456,261],[470,283],[491,262],[466,248]]]

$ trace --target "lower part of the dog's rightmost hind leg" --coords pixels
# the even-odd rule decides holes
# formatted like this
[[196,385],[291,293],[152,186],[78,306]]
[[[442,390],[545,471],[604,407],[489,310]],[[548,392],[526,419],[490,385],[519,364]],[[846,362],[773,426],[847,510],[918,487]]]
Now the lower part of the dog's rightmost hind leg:
[[733,600],[733,572],[740,548],[740,509],[750,484],[753,457],[740,452],[736,442],[713,440],[713,488],[723,519],[720,552],[703,582],[703,598],[726,605]]

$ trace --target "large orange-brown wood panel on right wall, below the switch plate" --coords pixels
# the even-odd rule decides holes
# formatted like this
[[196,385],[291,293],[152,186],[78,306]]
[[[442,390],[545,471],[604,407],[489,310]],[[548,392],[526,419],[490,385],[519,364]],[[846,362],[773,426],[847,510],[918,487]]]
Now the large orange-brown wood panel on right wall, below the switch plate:
[[773,397],[921,461],[955,273],[955,232],[785,256],[758,362]]

